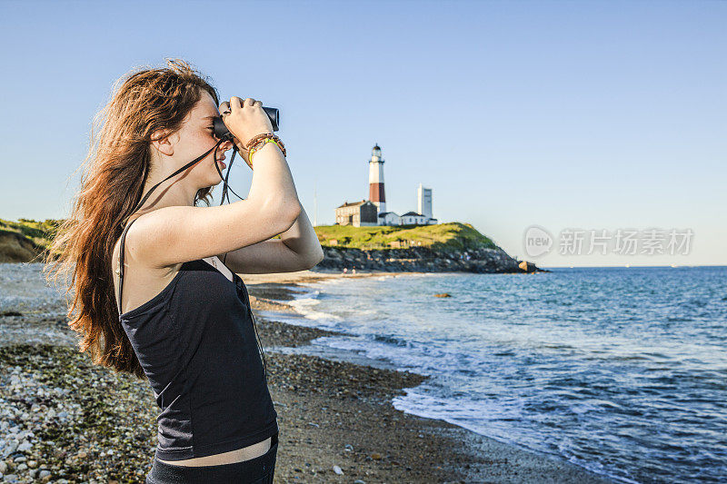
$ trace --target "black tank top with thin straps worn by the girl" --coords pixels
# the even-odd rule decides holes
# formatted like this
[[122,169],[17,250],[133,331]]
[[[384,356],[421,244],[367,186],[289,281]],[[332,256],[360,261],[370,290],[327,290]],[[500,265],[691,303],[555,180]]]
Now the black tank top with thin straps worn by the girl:
[[154,298],[121,314],[124,239],[134,221],[121,236],[119,321],[162,410],[156,457],[210,456],[271,437],[277,413],[240,276],[231,282],[204,260],[184,262]]

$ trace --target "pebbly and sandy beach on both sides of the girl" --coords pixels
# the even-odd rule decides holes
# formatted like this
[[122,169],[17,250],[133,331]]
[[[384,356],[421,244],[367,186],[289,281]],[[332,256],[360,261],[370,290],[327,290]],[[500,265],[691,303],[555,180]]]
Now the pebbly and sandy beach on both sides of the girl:
[[[278,412],[276,482],[611,482],[443,420],[395,410],[393,397],[421,383],[421,375],[276,351],[332,332],[266,319],[259,311],[291,311],[285,301],[306,282],[380,273],[240,275]],[[9,482],[143,482],[158,413],[148,383],[92,365],[65,324],[22,312],[0,315],[0,472]]]

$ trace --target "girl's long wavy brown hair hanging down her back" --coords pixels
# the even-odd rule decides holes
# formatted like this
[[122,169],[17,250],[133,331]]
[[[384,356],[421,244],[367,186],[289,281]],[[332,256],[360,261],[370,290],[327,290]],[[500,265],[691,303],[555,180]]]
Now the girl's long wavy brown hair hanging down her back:
[[[152,133],[174,133],[203,91],[219,104],[214,87],[186,62],[134,70],[115,83],[111,101],[96,114],[81,186],[70,217],[57,228],[44,254],[46,279],[65,274],[69,326],[78,332],[79,351],[96,364],[144,378],[115,302],[111,257],[122,221],[144,193],[150,170]],[[212,187],[200,189],[194,204],[209,206]],[[68,274],[72,274],[70,282]]]

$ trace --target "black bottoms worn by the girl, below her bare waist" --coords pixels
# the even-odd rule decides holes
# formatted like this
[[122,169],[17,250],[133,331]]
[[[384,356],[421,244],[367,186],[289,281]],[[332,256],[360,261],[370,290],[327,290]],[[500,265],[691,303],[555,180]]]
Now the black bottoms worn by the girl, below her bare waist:
[[173,466],[154,457],[152,469],[146,475],[146,484],[273,484],[275,457],[278,451],[278,433],[270,442],[270,449],[254,459],[220,464],[217,466]]

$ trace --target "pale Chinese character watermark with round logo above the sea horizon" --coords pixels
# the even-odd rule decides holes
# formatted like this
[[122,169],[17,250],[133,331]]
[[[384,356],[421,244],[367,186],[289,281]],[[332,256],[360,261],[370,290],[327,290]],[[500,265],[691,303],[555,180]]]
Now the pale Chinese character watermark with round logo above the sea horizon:
[[561,255],[686,255],[692,249],[692,229],[644,230],[563,229],[557,239],[539,225],[525,230],[523,245],[529,257],[558,248]]

